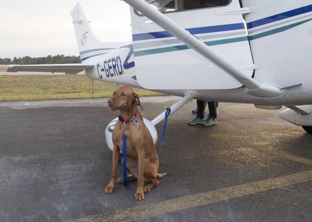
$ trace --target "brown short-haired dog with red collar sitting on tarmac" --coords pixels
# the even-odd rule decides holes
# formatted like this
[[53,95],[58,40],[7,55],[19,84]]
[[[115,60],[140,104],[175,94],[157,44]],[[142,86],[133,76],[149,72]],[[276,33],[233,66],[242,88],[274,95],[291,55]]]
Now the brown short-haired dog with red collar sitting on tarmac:
[[[116,89],[113,98],[108,101],[108,105],[113,111],[119,110],[121,119],[119,118],[120,121],[117,121],[113,131],[114,150],[112,173],[110,182],[105,187],[104,192],[112,193],[114,190],[118,155],[120,150],[122,152],[123,145],[122,134],[124,124],[122,119],[124,121],[136,119],[136,123],[138,121],[137,124],[135,124],[135,121],[130,121],[126,124],[126,166],[132,174],[127,180],[132,181],[137,179],[135,199],[141,201],[144,199],[144,192],[149,192],[159,184],[156,177],[161,178],[166,173],[157,173],[159,162],[156,148],[148,128],[143,123],[142,116],[137,111],[137,105],[141,107],[138,95],[129,86],[121,86]],[[136,113],[137,116],[133,118]],[[123,164],[123,159],[121,160],[121,164]],[[144,181],[150,183],[144,186]],[[123,177],[118,178],[116,182],[122,183]]]

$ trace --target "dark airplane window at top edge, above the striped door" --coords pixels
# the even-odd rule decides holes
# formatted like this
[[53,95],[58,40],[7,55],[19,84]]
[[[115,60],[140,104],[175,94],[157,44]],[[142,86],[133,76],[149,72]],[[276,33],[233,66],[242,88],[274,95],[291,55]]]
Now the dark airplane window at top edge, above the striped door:
[[[145,0],[160,12],[194,10],[228,5],[231,0]],[[142,13],[135,10],[138,15]]]

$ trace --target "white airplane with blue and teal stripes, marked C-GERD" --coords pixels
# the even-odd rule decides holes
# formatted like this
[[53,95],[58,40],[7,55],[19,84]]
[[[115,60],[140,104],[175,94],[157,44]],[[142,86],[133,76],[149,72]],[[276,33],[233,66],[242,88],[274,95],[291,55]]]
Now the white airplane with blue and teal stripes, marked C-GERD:
[[133,42],[115,49],[100,42],[77,4],[71,16],[81,64],[7,71],[85,70],[93,80],[182,97],[172,113],[193,99],[284,105],[289,109],[279,117],[312,133],[311,0],[124,1],[131,6]]

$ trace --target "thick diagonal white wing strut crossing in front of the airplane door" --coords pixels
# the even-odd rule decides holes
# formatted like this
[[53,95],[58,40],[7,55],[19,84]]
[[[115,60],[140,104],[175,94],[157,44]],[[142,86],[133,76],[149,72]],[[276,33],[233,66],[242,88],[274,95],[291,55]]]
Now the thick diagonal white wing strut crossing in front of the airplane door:
[[232,63],[226,61],[213,50],[209,48],[201,40],[197,39],[191,33],[177,25],[174,21],[167,18],[164,14],[157,11],[152,5],[147,3],[145,0],[124,0],[126,3],[131,5],[133,8],[137,9],[143,15],[153,20],[156,24],[162,27],[167,32],[171,33],[178,40],[181,40],[184,44],[188,45],[190,48],[195,50],[205,59],[212,61],[219,68],[223,69],[234,79],[241,82],[249,90],[248,94],[256,98],[266,98],[266,99],[277,99],[284,97],[285,94],[276,85],[261,84],[255,81],[253,78],[246,76]]

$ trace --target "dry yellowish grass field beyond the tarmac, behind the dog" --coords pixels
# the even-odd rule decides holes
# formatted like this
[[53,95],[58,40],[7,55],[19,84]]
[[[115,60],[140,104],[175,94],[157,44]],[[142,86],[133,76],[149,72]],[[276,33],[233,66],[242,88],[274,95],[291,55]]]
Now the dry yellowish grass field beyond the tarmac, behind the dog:
[[[112,97],[118,85],[94,81],[97,98]],[[135,89],[139,96],[164,94]],[[0,101],[57,100],[91,98],[92,81],[85,75],[0,76]]]

